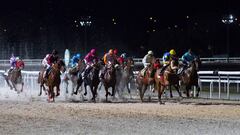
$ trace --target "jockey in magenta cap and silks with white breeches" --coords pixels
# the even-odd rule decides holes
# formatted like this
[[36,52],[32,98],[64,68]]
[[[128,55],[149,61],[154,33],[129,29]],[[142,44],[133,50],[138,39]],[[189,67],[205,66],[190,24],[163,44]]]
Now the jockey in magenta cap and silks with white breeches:
[[92,69],[92,65],[94,64],[94,61],[98,61],[98,58],[96,56],[96,49],[92,49],[84,58],[84,62],[87,65],[87,67],[82,73],[83,79],[87,76],[87,74]]

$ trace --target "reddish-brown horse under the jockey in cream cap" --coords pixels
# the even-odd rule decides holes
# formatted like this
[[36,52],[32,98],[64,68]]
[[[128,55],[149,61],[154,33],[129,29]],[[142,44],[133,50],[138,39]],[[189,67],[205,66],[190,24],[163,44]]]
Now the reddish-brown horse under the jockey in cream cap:
[[[151,64],[147,70],[146,70],[146,74],[144,76],[142,76],[142,71],[139,71],[137,78],[136,78],[136,82],[137,82],[137,89],[139,90],[139,95],[140,95],[140,99],[143,102],[143,97],[144,97],[144,93],[147,90],[147,87],[149,85],[151,85],[151,74],[153,72],[153,64]],[[152,80],[154,82],[154,80]]]

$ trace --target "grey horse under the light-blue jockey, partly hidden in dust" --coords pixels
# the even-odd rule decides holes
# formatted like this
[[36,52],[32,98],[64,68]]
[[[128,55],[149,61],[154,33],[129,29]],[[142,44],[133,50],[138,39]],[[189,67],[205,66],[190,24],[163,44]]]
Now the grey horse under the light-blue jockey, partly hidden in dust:
[[[71,95],[77,95],[79,88],[82,85],[82,71],[85,65],[83,60],[78,61],[78,65],[76,67],[70,68],[67,72],[64,73],[63,82],[66,84],[66,93],[68,93],[68,85],[70,80],[72,82],[72,93]],[[74,89],[76,88],[76,91]]]

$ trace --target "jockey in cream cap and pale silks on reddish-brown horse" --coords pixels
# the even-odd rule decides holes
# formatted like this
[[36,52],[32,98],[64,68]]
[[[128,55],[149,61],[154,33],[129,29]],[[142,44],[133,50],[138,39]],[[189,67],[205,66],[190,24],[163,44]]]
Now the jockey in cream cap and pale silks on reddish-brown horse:
[[143,70],[141,71],[142,75],[144,76],[148,67],[152,65],[152,63],[154,62],[155,57],[153,56],[153,51],[148,51],[148,53],[144,56],[144,58],[142,59],[142,63],[143,63]]

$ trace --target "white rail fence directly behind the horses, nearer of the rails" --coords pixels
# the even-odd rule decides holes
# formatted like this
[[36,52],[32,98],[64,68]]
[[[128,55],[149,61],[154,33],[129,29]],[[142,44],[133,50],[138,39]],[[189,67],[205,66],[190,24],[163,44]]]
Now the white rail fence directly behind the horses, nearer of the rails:
[[[4,73],[4,70],[0,70],[0,73]],[[39,90],[39,84],[37,83],[39,71],[22,71],[23,79],[25,86],[30,91],[36,91]],[[137,74],[137,71],[135,72]],[[226,94],[227,99],[230,99],[230,91],[237,93],[237,98],[240,99],[240,93],[239,93],[239,84],[240,84],[240,71],[199,71],[199,84],[201,90],[203,89],[203,83],[207,83],[209,85],[209,98],[213,97],[214,89],[216,91],[216,88],[218,88],[218,97],[219,99],[222,98],[222,94]],[[0,76],[0,85],[7,86],[6,82]],[[3,83],[4,82],[4,83]],[[217,84],[217,87],[214,87],[214,84]],[[236,89],[233,89],[231,87],[231,84],[236,84]],[[195,89],[194,89],[195,93]],[[194,94],[195,95],[195,94]],[[238,97],[239,96],[239,97]],[[215,97],[216,98],[216,97]]]

